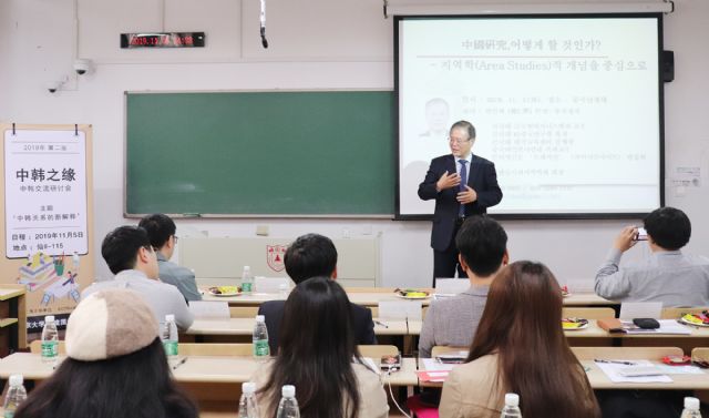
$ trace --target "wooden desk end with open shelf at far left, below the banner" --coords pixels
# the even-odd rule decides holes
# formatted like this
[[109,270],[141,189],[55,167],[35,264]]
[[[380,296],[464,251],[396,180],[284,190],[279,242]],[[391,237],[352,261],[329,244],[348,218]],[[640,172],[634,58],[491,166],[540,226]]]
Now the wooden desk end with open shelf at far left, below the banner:
[[24,286],[0,286],[0,356],[27,348]]

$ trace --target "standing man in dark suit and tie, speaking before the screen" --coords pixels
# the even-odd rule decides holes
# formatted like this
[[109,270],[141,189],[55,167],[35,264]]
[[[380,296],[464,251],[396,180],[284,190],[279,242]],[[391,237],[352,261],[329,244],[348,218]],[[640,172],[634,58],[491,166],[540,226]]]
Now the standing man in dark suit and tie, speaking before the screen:
[[435,198],[431,247],[433,248],[433,281],[436,277],[465,277],[458,262],[455,234],[465,217],[487,212],[502,200],[495,164],[477,155],[472,149],[475,128],[467,121],[451,126],[451,154],[431,161],[425,179],[419,185],[419,197]]

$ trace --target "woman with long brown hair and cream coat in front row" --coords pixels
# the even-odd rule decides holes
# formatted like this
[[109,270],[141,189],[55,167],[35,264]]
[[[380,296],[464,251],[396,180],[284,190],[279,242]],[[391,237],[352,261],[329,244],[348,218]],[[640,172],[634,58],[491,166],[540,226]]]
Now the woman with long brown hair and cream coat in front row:
[[441,418],[497,418],[505,392],[524,418],[599,418],[596,398],[562,330],[562,290],[544,265],[516,262],[490,287],[467,363],[443,384]]

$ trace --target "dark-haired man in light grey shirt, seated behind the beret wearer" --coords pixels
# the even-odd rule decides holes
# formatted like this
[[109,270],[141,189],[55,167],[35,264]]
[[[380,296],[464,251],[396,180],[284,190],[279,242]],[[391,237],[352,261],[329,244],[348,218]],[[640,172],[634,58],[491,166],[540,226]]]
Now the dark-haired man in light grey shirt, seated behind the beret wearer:
[[119,226],[103,238],[101,255],[115,277],[93,283],[82,292],[82,298],[107,288],[130,288],[140,294],[153,309],[158,324],[165,320],[165,315],[172,314],[175,315],[177,328],[189,328],[194,316],[187,308],[185,298],[175,286],[157,279],[157,256],[145,230],[138,226]]

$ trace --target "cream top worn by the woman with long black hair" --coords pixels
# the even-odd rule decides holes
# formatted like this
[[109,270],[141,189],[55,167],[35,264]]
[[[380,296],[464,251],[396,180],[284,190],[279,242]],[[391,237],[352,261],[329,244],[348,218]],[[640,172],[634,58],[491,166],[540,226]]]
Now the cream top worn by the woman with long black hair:
[[[268,361],[263,367],[260,367],[254,374],[254,376],[251,376],[251,381],[256,383],[256,390],[260,390],[264,387],[266,380],[270,376],[271,367],[273,361]],[[379,375],[358,363],[352,364],[352,369],[354,369],[354,376],[357,377],[357,381],[359,383],[358,388],[360,405],[358,408],[358,418],[389,417],[387,392],[384,391],[384,387],[382,386]],[[280,388],[274,389],[280,391]],[[296,388],[296,394],[297,392],[298,388]],[[276,415],[275,411],[266,410],[264,401],[261,401],[260,399],[257,400],[260,406],[261,418],[271,418]]]

